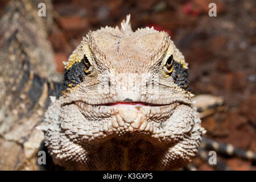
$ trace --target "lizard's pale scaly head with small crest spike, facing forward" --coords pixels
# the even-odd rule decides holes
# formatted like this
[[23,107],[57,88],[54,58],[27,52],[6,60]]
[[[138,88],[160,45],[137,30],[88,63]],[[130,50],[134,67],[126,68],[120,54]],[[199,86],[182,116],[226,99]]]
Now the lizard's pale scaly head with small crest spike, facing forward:
[[[187,69],[166,32],[133,32],[130,16],[121,29],[89,32],[65,63],[63,96],[46,113],[46,145],[55,162],[68,168],[79,163],[77,169],[175,169],[188,163],[204,130]],[[113,154],[117,162],[109,164],[105,158]],[[135,167],[139,158],[141,167]]]

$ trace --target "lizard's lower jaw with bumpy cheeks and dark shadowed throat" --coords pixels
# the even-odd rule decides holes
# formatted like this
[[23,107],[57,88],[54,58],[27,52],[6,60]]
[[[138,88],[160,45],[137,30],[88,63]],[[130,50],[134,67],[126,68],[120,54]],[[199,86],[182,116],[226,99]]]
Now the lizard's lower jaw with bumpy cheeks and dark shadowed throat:
[[204,131],[195,109],[179,102],[107,106],[57,100],[45,121],[55,163],[81,170],[177,169],[196,155]]

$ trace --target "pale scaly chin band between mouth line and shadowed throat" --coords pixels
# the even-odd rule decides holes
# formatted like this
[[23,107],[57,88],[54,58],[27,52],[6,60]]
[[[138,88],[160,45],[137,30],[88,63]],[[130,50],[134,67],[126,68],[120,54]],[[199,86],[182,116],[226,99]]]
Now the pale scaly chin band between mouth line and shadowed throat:
[[126,133],[142,134],[149,140],[170,143],[200,123],[193,107],[180,102],[166,105],[145,102],[89,105],[84,101],[74,101],[62,105],[60,110],[63,113],[59,116],[61,129],[65,133],[78,134],[83,142],[89,143]]

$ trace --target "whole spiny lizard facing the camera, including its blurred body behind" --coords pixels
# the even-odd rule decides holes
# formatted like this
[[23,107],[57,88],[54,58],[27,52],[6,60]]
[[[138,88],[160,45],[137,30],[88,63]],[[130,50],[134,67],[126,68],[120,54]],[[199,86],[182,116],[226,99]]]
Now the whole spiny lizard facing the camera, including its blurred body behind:
[[[30,7],[24,4],[31,6],[23,0],[14,13]],[[36,21],[39,26],[40,20]],[[1,118],[2,169],[39,169],[35,157],[44,143],[55,164],[65,169],[179,169],[191,162],[205,130],[191,99],[188,64],[166,32],[148,27],[134,32],[130,16],[121,28],[89,32],[65,63],[63,84],[43,78],[51,78],[42,74],[51,72],[52,63],[34,74],[33,58],[49,59],[31,56],[31,48],[47,46],[28,49],[23,34],[17,26],[2,52],[1,63],[7,60],[12,65],[1,70],[5,88],[1,111],[7,113]],[[39,31],[38,36],[47,43],[45,34]],[[12,77],[16,82],[9,81]],[[33,100],[36,92],[40,94]],[[26,110],[18,113],[22,106]],[[15,152],[9,154],[11,148]]]

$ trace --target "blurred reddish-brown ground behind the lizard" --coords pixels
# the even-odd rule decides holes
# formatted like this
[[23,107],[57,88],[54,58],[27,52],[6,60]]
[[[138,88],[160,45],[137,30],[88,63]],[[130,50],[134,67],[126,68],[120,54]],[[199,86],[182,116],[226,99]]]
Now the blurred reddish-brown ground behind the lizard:
[[[8,1],[0,1],[0,13]],[[209,3],[217,5],[210,17]],[[153,26],[171,35],[189,63],[192,93],[221,96],[225,108],[203,119],[209,138],[256,151],[256,6],[254,0],[53,1],[49,40],[57,72],[89,30],[119,26],[131,14],[133,30]],[[248,160],[219,156],[232,169],[255,169]],[[195,159],[199,169],[211,170]]]

